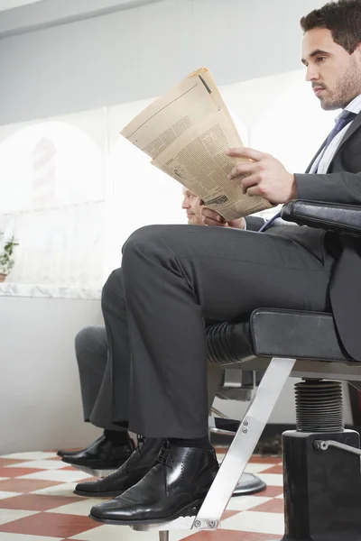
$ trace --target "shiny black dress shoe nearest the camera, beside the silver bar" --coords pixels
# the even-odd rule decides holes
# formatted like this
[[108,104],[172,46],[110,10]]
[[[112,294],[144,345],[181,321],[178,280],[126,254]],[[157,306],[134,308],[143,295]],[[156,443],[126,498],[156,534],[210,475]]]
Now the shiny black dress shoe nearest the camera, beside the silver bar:
[[89,517],[132,526],[197,515],[217,472],[214,449],[168,444],[142,481],[116,500],[94,506]]

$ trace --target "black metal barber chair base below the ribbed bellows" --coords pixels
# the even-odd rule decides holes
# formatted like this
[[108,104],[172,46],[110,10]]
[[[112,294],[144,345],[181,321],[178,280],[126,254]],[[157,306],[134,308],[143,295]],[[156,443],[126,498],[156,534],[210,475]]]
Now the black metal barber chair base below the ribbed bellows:
[[359,449],[359,435],[282,435],[284,523],[282,541],[360,541],[360,457],[330,447],[317,451],[316,439],[336,440]]

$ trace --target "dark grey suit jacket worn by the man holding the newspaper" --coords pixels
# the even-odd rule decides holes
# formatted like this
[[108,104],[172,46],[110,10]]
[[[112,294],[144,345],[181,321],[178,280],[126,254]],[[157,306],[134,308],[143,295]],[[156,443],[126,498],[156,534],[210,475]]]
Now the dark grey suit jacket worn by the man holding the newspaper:
[[[340,142],[327,173],[310,174],[311,165],[324,144],[306,173],[295,175],[298,198],[359,205],[361,212],[361,113]],[[255,230],[259,223],[259,218],[247,218],[250,230]],[[345,243],[338,235],[307,226],[275,226],[269,233],[282,234],[300,243],[323,261],[325,269],[332,270],[330,299],[338,334],[347,353],[361,361],[361,241]]]

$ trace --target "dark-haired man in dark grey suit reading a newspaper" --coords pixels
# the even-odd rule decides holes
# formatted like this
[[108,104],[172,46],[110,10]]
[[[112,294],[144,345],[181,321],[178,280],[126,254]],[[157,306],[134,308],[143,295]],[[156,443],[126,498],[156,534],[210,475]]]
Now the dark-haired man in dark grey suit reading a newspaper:
[[[306,78],[321,106],[341,108],[342,115],[307,174],[293,174],[260,151],[231,149],[228,155],[253,161],[237,165],[230,176],[249,195],[277,204],[301,198],[361,205],[359,0],[325,5],[302,18],[301,26]],[[208,225],[212,220],[223,223],[217,214],[204,213]],[[332,308],[348,353],[361,360],[356,333],[345,331],[349,307],[340,302],[348,291],[355,297],[358,290],[356,248],[308,227],[275,221],[256,233],[260,220],[253,217],[245,225],[247,231],[227,232],[223,227],[153,225],[125,243],[123,282],[132,355],[129,426],[147,440],[163,438],[166,444],[142,481],[94,507],[93,518],[119,524],[171,519],[194,514],[205,498],[218,471],[208,441],[209,319],[246,317],[257,307]],[[345,257],[355,270],[345,265]],[[112,333],[122,332],[116,299],[104,308],[105,317],[112,317]],[[355,327],[357,315],[355,307]],[[114,420],[122,422],[117,409]]]

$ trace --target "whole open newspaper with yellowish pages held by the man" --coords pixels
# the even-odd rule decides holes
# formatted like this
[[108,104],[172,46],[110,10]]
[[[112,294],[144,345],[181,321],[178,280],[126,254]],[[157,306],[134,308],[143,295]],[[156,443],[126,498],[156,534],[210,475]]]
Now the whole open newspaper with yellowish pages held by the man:
[[239,179],[227,179],[237,163],[247,160],[226,154],[244,145],[206,68],[155,100],[121,134],[227,221],[272,206],[263,197],[244,194]]

